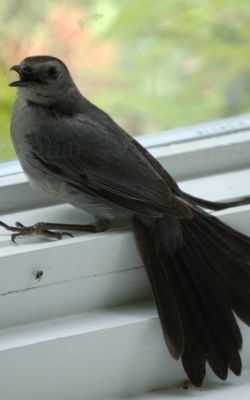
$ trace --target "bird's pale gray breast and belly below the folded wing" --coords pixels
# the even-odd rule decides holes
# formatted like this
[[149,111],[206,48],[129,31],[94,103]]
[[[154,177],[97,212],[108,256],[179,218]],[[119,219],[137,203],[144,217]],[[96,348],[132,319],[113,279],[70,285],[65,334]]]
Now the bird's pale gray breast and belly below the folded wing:
[[[11,137],[24,172],[28,175],[33,187],[59,198],[63,202],[70,203],[75,207],[96,216],[97,218],[127,220],[130,213],[115,204],[84,193],[83,191],[68,184],[62,177],[57,177],[45,171],[43,165],[33,156],[33,149],[27,137],[36,137],[37,132],[49,125],[52,116],[46,113],[42,107],[30,106],[26,101],[17,98],[11,119]],[[53,149],[51,149],[53,154]],[[63,165],[62,165],[63,168]],[[84,172],[84,171],[83,171]]]

